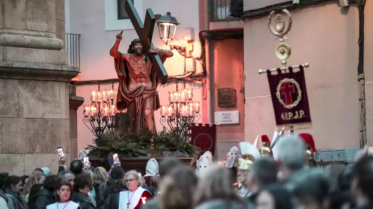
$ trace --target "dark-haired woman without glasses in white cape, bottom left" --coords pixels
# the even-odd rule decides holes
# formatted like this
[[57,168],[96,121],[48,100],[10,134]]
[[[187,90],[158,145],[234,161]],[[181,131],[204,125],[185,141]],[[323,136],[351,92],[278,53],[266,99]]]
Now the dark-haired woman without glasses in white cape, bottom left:
[[57,202],[47,205],[47,209],[81,209],[78,203],[71,200],[72,193],[72,186],[69,183],[62,181],[59,189],[57,189]]

